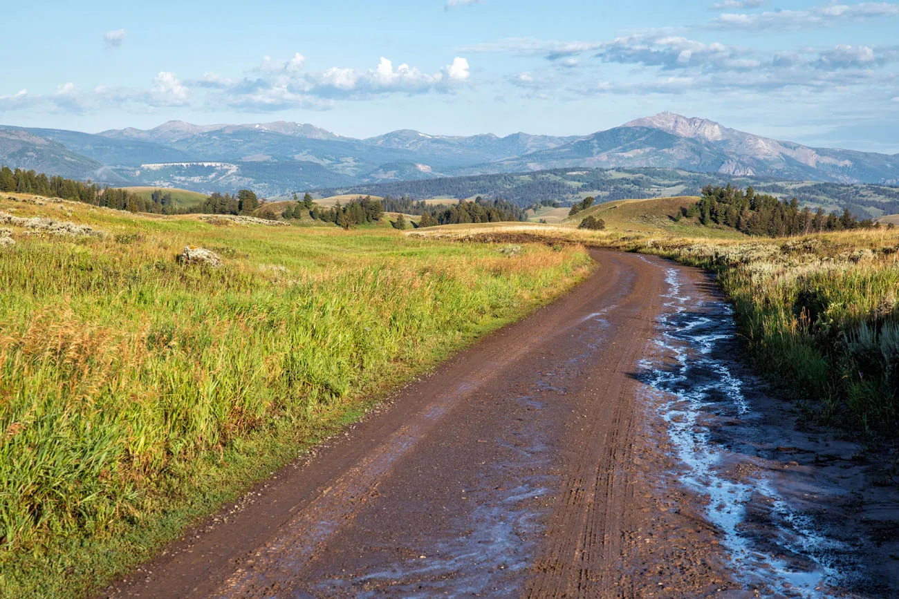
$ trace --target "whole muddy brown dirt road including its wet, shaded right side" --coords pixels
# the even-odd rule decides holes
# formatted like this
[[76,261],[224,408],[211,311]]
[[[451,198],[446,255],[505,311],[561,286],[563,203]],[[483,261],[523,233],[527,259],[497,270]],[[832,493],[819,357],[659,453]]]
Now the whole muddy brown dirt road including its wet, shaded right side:
[[708,277],[593,257],[105,595],[899,593],[895,491],[757,391]]

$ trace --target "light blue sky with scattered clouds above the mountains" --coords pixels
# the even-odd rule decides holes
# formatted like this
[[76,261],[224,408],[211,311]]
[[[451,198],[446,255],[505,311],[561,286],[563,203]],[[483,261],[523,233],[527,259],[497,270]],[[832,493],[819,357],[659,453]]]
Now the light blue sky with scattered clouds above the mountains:
[[899,3],[30,0],[4,22],[4,125],[587,135],[671,110],[899,153]]

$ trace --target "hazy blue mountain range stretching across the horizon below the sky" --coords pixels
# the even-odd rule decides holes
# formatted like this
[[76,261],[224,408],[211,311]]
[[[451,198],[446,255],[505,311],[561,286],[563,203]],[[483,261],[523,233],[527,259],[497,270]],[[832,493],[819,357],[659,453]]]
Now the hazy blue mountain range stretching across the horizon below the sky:
[[114,185],[263,195],[547,169],[666,168],[790,181],[899,184],[899,154],[813,148],[671,112],[583,137],[342,137],[285,121],[111,129],[0,127],[0,163]]

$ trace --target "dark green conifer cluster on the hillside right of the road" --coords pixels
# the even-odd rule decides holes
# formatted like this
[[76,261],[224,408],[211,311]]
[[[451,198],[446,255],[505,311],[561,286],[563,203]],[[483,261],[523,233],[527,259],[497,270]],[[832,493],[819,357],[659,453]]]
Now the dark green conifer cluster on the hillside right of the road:
[[869,218],[859,220],[849,208],[842,214],[825,214],[820,207],[812,212],[809,207],[800,208],[797,198],[781,200],[756,193],[752,187],[743,190],[729,183],[725,187],[704,187],[699,201],[683,208],[675,220],[683,216],[698,218],[702,225],[725,225],[761,237],[877,227],[877,223]]

